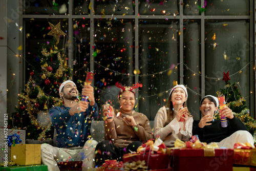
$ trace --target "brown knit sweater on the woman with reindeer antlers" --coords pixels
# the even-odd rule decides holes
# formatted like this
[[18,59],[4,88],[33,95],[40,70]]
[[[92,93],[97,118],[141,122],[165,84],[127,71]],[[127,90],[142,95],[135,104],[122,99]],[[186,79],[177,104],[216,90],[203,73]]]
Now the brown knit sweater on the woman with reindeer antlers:
[[118,147],[123,148],[133,141],[141,141],[144,143],[153,138],[150,121],[148,121],[144,114],[135,111],[131,114],[135,122],[138,123],[135,128],[127,124],[123,119],[126,114],[120,113],[120,115],[116,117],[119,110],[115,109],[114,111],[114,120],[112,122],[104,121],[105,140],[110,140]]

